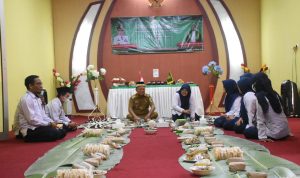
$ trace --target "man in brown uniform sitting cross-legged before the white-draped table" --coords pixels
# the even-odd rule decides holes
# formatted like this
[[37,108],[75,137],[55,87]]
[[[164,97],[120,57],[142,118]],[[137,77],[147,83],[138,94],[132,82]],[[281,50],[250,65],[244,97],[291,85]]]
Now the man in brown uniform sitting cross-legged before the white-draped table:
[[[150,110],[149,110],[150,107]],[[154,112],[155,106],[150,95],[145,94],[145,84],[138,83],[136,85],[136,94],[130,97],[127,119],[132,121],[139,121],[144,119],[156,119],[158,114]]]

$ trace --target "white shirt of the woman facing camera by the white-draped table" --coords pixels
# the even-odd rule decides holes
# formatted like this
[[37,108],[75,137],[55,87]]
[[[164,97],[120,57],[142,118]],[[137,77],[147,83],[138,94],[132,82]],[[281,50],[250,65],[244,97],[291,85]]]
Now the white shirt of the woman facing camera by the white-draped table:
[[[195,107],[195,98],[191,95],[190,100],[190,110],[191,110],[191,117],[195,117],[196,113],[196,107]],[[183,108],[181,108],[181,100],[180,100],[180,95],[179,93],[176,93],[172,99],[172,114],[178,114],[181,115],[182,112],[184,111]]]

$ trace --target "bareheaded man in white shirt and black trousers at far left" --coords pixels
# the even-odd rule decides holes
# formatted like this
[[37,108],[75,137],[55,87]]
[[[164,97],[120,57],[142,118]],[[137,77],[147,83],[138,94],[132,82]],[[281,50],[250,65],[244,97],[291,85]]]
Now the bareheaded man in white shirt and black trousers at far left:
[[13,130],[17,138],[26,142],[55,141],[66,135],[62,129],[46,115],[38,97],[43,89],[42,81],[36,75],[25,79],[26,94],[21,98],[14,120]]

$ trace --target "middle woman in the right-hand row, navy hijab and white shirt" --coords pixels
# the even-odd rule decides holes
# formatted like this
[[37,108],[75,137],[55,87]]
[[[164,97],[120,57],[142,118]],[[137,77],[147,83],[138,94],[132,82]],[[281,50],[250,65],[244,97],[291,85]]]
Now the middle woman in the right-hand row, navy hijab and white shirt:
[[245,128],[249,127],[249,118],[252,123],[253,118],[255,117],[256,107],[255,101],[256,97],[252,90],[252,78],[241,77],[237,82],[239,91],[241,93],[241,108],[240,108],[240,118],[236,121],[233,130],[236,133],[243,133]]

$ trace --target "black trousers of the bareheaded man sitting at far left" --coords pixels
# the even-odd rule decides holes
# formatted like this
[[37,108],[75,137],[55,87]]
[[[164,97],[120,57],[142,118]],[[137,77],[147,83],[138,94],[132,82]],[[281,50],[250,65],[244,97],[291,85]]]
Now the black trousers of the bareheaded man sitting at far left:
[[56,129],[51,126],[40,126],[34,130],[28,129],[24,137],[25,142],[51,142],[66,136],[64,129]]

